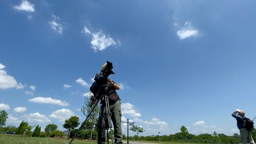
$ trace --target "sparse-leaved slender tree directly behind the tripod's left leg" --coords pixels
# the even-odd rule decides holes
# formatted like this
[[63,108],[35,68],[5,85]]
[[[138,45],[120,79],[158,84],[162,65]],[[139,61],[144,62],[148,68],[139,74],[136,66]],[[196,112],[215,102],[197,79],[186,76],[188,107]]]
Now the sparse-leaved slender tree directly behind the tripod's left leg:
[[[91,112],[92,107],[89,106],[90,103],[90,97],[93,96],[93,94],[91,92],[89,92],[89,95],[85,96],[85,106],[83,106],[81,108],[81,112],[87,117],[88,114]],[[92,113],[90,114],[89,118],[87,119],[89,126],[90,127],[94,127],[97,124],[98,121],[98,114],[100,113],[100,104],[98,103],[98,105],[94,108],[94,111],[92,111]],[[91,128],[91,136],[90,136],[90,141],[92,140],[92,132],[93,129]]]

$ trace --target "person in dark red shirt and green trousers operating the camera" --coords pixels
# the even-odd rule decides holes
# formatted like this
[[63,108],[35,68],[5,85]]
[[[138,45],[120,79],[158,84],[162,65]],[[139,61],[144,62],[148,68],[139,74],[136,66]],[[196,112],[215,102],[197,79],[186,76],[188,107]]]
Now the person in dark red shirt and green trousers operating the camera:
[[[101,67],[101,72],[106,71],[107,63],[105,63]],[[119,90],[120,87],[111,79],[107,79],[106,85],[108,87],[108,91],[106,95],[108,96],[108,103],[110,108],[111,120],[114,126],[114,144],[122,144],[122,128],[121,128],[121,103],[119,95],[117,94],[116,90]],[[95,103],[98,100],[95,101]],[[101,105],[101,109],[104,108]],[[106,113],[104,110],[103,118],[102,118],[102,127],[100,127],[100,116],[98,118],[98,140],[97,144],[105,144],[105,125],[106,125]]]

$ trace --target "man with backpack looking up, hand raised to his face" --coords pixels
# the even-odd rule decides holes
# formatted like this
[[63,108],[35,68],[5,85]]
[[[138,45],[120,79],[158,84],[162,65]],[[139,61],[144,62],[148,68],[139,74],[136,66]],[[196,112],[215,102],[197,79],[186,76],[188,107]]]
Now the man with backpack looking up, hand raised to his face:
[[233,112],[231,114],[231,116],[233,116],[234,118],[236,118],[236,126],[238,127],[239,131],[240,131],[240,136],[241,136],[241,139],[242,139],[242,143],[243,144],[247,144],[247,140],[250,144],[255,144],[254,143],[254,140],[252,138],[252,131],[248,131],[246,128],[245,128],[245,112],[244,111],[241,111],[241,110],[238,110],[236,109],[235,112]]

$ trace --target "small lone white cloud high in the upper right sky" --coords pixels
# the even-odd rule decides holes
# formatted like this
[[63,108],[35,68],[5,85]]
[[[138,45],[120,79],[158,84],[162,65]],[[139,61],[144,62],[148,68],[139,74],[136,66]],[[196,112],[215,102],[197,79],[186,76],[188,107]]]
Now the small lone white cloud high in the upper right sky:
[[190,21],[187,21],[184,26],[185,27],[182,27],[181,30],[177,31],[177,36],[180,39],[198,36],[199,31],[196,30],[193,26],[191,26]]

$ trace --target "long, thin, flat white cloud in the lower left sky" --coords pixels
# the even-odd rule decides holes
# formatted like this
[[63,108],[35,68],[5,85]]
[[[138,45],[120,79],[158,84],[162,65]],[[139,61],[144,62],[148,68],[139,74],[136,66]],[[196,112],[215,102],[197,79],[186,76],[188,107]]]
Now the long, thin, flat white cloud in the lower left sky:
[[51,97],[35,97],[32,99],[28,99],[28,101],[35,102],[35,103],[49,103],[49,104],[60,105],[60,106],[68,106],[69,105],[65,101],[56,100]]

